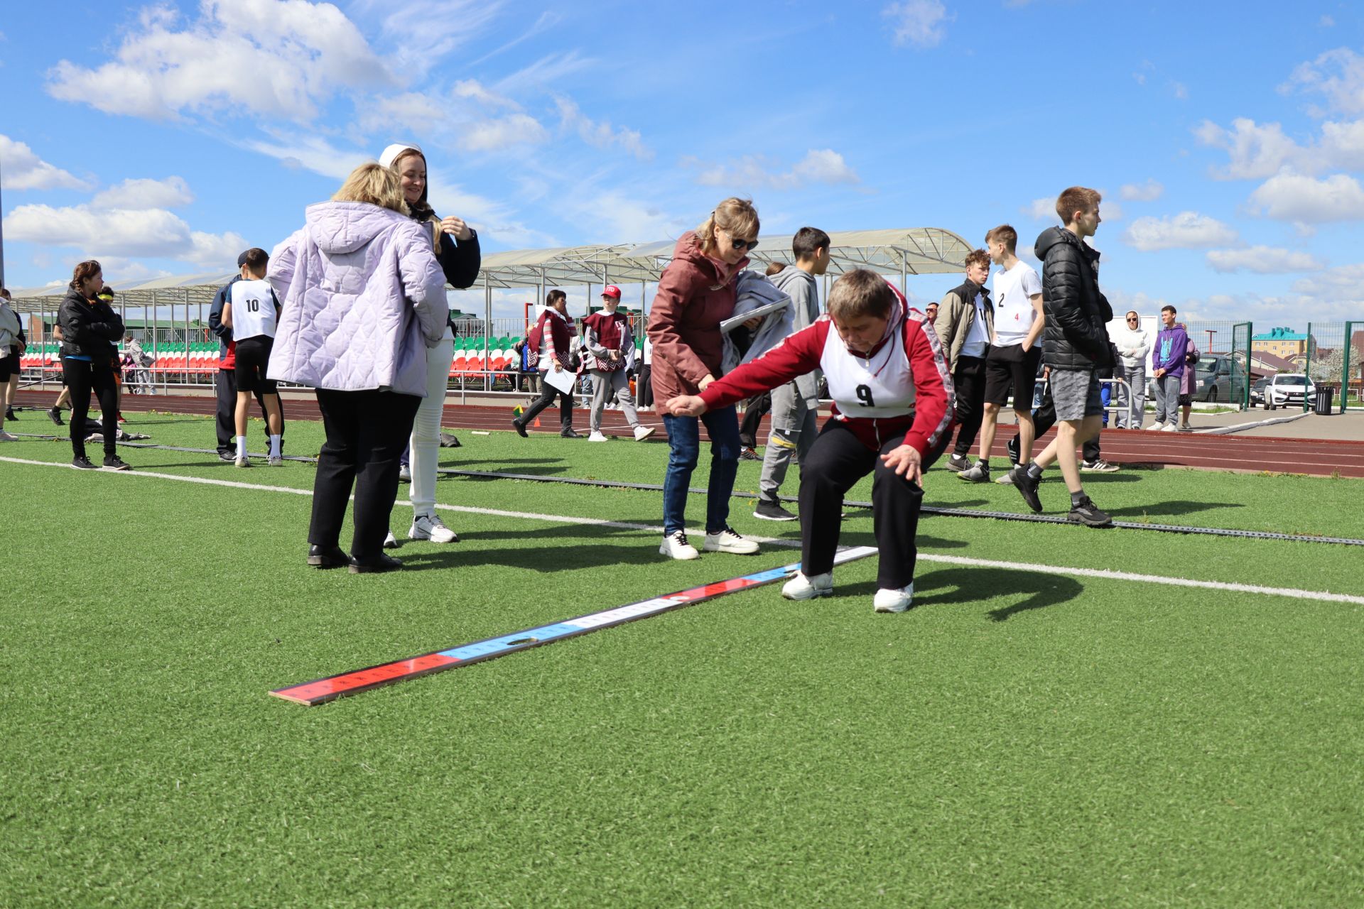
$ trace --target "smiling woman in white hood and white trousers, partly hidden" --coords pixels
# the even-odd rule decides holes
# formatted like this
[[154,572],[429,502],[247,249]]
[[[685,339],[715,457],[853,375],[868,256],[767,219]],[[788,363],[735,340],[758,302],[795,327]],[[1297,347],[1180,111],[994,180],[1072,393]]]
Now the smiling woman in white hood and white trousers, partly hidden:
[[[479,236],[462,218],[438,218],[427,203],[427,162],[421,149],[413,143],[390,144],[379,155],[379,164],[398,174],[402,184],[402,198],[408,203],[413,221],[430,226],[431,245],[441,263],[445,279],[456,289],[473,285],[483,263],[479,252]],[[441,455],[441,416],[445,413],[445,395],[450,382],[450,363],[454,360],[454,328],[446,320],[445,334],[434,348],[427,348],[427,397],[417,407],[412,422],[411,465],[412,465],[412,526],[408,540],[430,540],[431,542],[458,542],[460,537],[445,526],[435,512],[436,462]],[[383,545],[398,545],[389,531]]]

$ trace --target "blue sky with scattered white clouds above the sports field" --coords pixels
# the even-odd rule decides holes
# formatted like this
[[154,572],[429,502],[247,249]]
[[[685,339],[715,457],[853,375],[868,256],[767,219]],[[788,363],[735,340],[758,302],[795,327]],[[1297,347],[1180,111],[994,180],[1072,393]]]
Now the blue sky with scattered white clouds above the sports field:
[[[765,236],[1030,247],[1105,194],[1114,304],[1364,318],[1364,31],[1344,3],[4,4],[5,283],[229,271],[413,139],[486,251]],[[951,278],[910,279],[919,298]]]

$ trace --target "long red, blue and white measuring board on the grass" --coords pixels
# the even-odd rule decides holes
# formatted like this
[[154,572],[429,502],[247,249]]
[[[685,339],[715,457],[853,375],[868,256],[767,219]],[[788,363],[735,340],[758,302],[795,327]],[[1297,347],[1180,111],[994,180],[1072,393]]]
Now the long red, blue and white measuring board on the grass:
[[[861,559],[874,552],[876,549],[870,546],[844,549],[835,556],[835,564]],[[600,631],[602,628],[611,628],[626,621],[634,621],[636,619],[647,619],[649,616],[671,612],[672,609],[679,609],[682,606],[690,606],[715,597],[723,597],[727,593],[735,593],[737,590],[761,587],[762,585],[772,583],[773,581],[782,581],[797,567],[798,566],[794,564],[782,566],[779,568],[768,568],[765,571],[743,575],[742,578],[715,581],[700,587],[690,587],[687,590],[679,590],[678,593],[671,593],[663,597],[641,600],[640,602],[632,602],[625,606],[592,612],[576,619],[566,619],[547,626],[537,626],[535,628],[527,628],[509,635],[484,638],[483,641],[475,641],[473,643],[460,645],[446,650],[435,650],[432,653],[421,654],[420,657],[409,657],[406,660],[396,660],[393,662],[385,662],[366,669],[342,672],[336,676],[306,681],[300,685],[291,685],[288,688],[276,688],[270,694],[306,706],[327,703],[329,700],[336,700],[337,698],[342,698],[345,695],[360,694],[361,691],[389,685],[394,681],[416,679],[419,676],[443,672],[445,669],[453,669],[456,666],[480,662],[483,660],[494,660],[509,653],[518,653],[540,645],[563,641],[565,638],[576,638],[578,635]]]

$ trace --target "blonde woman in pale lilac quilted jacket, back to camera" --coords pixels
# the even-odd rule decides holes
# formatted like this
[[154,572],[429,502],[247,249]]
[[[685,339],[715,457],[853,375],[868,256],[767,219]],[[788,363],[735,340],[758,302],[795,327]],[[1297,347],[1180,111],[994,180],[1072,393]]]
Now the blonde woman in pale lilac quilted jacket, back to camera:
[[[402,563],[383,552],[398,455],[427,387],[427,348],[445,331],[445,275],[398,177],[356,168],[331,202],[270,255],[282,303],[269,376],[316,390],[327,440],[318,455],[308,564],[355,574]],[[351,557],[338,540],[355,484]]]

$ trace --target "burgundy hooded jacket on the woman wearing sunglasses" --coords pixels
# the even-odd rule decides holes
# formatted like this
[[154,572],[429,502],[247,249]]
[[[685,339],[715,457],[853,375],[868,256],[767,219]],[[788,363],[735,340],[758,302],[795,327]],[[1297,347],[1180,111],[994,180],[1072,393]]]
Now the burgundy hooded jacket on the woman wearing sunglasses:
[[720,322],[734,315],[734,278],[746,264],[745,256],[726,268],[701,252],[692,230],[678,238],[649,308],[655,399],[698,394],[705,373],[720,378]]

